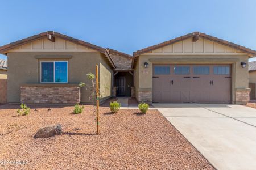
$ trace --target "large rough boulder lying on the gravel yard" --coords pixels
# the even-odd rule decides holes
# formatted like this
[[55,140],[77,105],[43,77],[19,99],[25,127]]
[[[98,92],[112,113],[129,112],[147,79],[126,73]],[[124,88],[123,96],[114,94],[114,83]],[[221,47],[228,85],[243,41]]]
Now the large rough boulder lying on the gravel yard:
[[46,126],[38,130],[34,138],[49,138],[55,135],[61,135],[62,126],[60,124]]

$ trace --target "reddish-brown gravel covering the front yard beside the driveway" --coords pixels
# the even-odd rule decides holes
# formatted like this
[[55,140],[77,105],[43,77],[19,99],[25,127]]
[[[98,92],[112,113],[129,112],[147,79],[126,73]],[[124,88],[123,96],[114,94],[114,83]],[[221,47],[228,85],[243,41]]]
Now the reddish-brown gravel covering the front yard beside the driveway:
[[[156,110],[112,114],[101,107],[101,134],[95,135],[91,105],[82,114],[72,114],[73,107],[32,105],[28,116],[16,117],[18,107],[0,105],[0,161],[27,164],[0,169],[214,169]],[[57,123],[62,135],[33,138],[39,128]]]

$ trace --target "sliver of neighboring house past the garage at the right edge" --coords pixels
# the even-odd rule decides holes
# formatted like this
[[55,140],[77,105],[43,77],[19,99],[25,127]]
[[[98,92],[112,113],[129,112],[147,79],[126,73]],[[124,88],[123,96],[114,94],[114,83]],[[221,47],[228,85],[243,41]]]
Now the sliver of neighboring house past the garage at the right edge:
[[256,90],[256,61],[249,62],[249,86],[251,86],[250,99],[255,99]]

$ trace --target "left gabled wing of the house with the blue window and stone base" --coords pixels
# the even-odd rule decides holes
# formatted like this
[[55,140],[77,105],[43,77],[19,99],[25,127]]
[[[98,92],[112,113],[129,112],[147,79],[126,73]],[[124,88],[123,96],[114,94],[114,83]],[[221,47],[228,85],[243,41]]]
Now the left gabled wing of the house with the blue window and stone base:
[[[112,51],[128,57],[53,31],[2,46],[0,53],[6,54],[9,62],[7,102],[89,103],[90,92],[85,87],[80,91],[78,84],[91,83],[86,74],[95,73],[96,64],[102,100],[108,99],[117,68],[109,54]],[[127,66],[118,68],[124,71]]]

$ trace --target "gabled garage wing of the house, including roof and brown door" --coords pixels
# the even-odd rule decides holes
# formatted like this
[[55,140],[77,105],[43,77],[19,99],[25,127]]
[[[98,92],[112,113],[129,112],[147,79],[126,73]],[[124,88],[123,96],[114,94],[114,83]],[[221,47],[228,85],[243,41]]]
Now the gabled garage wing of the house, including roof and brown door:
[[236,103],[249,100],[248,58],[256,51],[200,32],[133,54],[138,101]]

